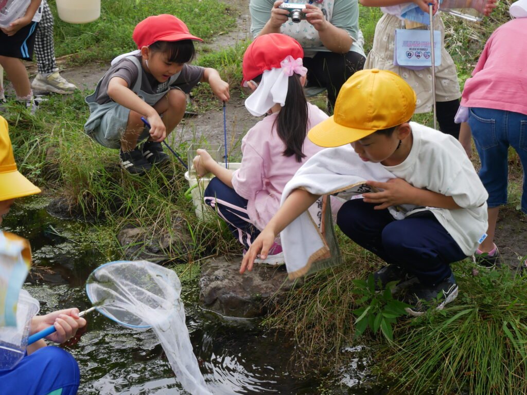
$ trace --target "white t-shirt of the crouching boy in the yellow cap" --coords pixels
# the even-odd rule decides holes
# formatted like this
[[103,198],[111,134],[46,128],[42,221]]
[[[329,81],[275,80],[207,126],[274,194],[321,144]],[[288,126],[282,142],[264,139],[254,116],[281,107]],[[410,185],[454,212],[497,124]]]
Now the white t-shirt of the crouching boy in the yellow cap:
[[[384,166],[415,187],[452,196],[457,210],[430,210],[466,255],[472,255],[487,230],[489,194],[474,166],[454,137],[415,122],[410,123],[413,145],[408,157],[396,166]],[[407,215],[408,215],[407,214]]]

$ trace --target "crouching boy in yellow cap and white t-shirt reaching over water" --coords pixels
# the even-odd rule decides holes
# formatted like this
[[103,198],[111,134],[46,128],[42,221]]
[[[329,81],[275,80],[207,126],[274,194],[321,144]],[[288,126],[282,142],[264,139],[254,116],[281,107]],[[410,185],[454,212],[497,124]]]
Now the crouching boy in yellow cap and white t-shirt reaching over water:
[[[388,264],[374,273],[376,284],[385,287],[398,281],[397,290],[407,288],[407,301],[413,305],[409,314],[423,314],[429,306],[423,300],[438,300],[440,309],[453,301],[458,288],[450,263],[473,254],[484,239],[487,193],[454,137],[410,122],[415,103],[415,92],[395,73],[373,69],[350,77],[337,97],[334,116],[308,134],[315,144],[336,148],[313,156],[290,181],[305,169],[315,169],[320,185],[307,180],[282,199],[280,210],[253,241],[240,272],[252,269],[258,253],[265,259],[276,235],[319,195],[345,190],[352,175],[387,172],[385,182],[367,181],[377,192],[344,203],[337,214],[339,228]],[[339,161],[345,150],[347,166]],[[298,242],[287,243],[286,233],[282,244],[291,271],[298,269],[297,254],[288,252],[301,249]],[[317,240],[304,244],[311,248]],[[324,257],[324,248],[310,251],[302,264]]]

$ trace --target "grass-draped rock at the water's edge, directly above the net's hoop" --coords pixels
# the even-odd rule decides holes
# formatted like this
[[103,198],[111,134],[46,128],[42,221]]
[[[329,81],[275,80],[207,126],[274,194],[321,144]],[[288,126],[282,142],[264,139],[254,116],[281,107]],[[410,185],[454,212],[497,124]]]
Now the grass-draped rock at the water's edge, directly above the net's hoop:
[[125,225],[118,233],[117,240],[123,248],[125,259],[155,263],[178,261],[178,256],[185,256],[193,243],[181,218],[174,219],[170,230]]

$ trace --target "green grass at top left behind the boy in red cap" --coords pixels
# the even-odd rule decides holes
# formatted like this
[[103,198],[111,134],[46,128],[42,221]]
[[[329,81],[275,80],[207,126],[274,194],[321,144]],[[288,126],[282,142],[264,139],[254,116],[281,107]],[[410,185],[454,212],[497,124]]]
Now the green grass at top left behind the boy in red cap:
[[133,29],[151,15],[173,14],[205,42],[236,26],[232,8],[217,0],[104,0],[101,17],[87,24],[61,21],[55,1],[49,3],[55,16],[55,55],[74,54],[71,60],[77,64],[108,61],[135,50]]

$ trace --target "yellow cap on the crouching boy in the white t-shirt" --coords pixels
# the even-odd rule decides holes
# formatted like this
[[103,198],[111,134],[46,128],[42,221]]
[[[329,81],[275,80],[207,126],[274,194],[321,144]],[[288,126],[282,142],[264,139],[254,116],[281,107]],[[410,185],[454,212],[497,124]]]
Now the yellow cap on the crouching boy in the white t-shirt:
[[335,112],[307,136],[321,147],[337,147],[407,122],[417,97],[410,85],[387,70],[361,70],[340,88]]

